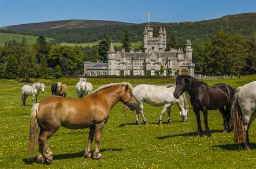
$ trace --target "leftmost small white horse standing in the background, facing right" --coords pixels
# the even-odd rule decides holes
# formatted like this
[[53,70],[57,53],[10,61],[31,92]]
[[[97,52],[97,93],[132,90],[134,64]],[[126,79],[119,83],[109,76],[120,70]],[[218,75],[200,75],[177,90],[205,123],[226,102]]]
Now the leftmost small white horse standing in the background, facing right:
[[37,97],[39,95],[40,90],[42,91],[42,93],[44,93],[44,83],[35,83],[32,86],[24,85],[22,87],[23,106],[26,106],[25,101],[28,96],[32,96],[32,106],[34,104],[35,96],[36,96],[36,103],[37,103]]

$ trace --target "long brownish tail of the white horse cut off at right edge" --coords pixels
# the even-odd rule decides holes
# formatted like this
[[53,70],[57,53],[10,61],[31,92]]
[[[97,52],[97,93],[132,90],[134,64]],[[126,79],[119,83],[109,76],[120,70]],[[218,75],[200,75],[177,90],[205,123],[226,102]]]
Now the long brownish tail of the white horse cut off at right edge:
[[234,129],[234,142],[238,144],[246,143],[244,124],[242,123],[242,112],[238,104],[238,94],[241,87],[239,87],[232,98],[231,118]]

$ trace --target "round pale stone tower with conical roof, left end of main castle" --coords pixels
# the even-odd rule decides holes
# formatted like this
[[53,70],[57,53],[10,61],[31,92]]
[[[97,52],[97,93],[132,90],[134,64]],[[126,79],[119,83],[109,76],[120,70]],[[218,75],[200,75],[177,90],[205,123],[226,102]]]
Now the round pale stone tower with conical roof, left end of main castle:
[[117,69],[116,51],[114,51],[112,43],[109,46],[109,51],[107,51],[107,65],[109,68],[109,75],[115,75]]

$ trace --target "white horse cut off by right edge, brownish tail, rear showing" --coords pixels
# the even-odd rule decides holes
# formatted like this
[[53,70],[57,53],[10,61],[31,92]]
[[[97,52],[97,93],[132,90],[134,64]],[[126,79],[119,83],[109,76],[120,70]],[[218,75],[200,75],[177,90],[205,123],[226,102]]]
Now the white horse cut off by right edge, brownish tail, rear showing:
[[232,100],[231,117],[234,128],[234,142],[240,149],[251,150],[249,128],[256,116],[256,81],[239,87]]

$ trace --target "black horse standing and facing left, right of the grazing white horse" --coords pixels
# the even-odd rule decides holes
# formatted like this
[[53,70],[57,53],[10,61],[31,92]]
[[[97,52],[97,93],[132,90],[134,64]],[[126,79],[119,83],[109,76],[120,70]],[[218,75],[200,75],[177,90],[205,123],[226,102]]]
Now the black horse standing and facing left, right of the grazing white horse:
[[[230,123],[231,101],[235,93],[235,89],[224,83],[217,83],[214,86],[208,86],[202,81],[198,81],[191,76],[180,75],[176,78],[176,89],[174,97],[179,98],[181,94],[187,91],[190,94],[190,102],[193,106],[193,111],[197,116],[198,132],[197,137],[203,135],[200,121],[200,111],[204,114],[205,135],[211,136],[211,131],[208,128],[207,112],[208,110],[219,109],[224,118],[224,131],[230,132],[232,126]],[[226,105],[226,110],[225,110]]]

